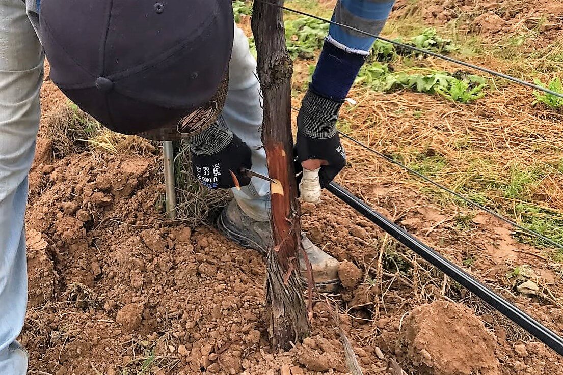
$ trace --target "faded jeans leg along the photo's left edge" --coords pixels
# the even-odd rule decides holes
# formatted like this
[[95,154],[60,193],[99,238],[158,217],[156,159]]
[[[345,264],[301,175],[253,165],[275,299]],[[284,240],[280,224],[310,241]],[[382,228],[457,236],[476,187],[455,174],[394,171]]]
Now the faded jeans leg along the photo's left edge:
[[43,55],[21,0],[0,0],[0,375],[24,375],[15,340],[27,304],[24,211],[39,125]]

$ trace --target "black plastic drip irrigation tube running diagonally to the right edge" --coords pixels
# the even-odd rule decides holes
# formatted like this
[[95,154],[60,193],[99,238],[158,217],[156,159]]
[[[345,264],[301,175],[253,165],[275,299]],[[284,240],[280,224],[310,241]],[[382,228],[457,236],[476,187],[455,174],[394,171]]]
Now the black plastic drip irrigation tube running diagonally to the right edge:
[[563,338],[558,336],[557,333],[551,331],[551,329],[539,323],[497,293],[491,291],[470,274],[445,259],[445,257],[438,254],[434,249],[412,236],[412,234],[405,232],[399,225],[391,222],[391,220],[373,210],[372,207],[342,186],[332,182],[327,189],[347,205],[376,224],[379,228],[383,229],[383,231],[391,234],[397,241],[403,243],[403,245],[428,261],[428,263],[434,265],[454,281],[466,287],[481,300],[489,304],[491,308],[512,320],[512,322],[528,331],[532,336],[551,347],[551,349],[555,350],[558,354],[563,355]]

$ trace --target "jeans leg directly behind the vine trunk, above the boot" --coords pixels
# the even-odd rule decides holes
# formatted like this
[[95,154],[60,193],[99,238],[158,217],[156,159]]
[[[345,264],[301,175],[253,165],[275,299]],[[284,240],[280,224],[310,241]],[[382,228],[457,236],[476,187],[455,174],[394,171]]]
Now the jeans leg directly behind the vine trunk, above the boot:
[[[256,60],[250,53],[248,39],[235,24],[233,55],[229,64],[229,92],[222,112],[233,133],[252,150],[252,169],[267,175],[266,151],[262,129],[262,98],[256,76]],[[261,222],[269,220],[270,183],[253,177],[251,183],[233,189],[239,207],[245,214]]]

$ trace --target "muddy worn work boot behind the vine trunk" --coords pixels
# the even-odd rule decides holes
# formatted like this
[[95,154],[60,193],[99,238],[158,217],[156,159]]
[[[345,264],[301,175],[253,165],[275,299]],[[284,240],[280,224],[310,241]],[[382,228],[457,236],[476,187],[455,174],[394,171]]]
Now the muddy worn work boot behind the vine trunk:
[[[269,222],[258,222],[240,209],[235,200],[223,209],[217,220],[219,231],[229,240],[247,249],[254,249],[266,255],[272,242]],[[304,232],[301,232],[301,246],[311,262],[315,285],[320,291],[334,291],[338,284],[338,260],[315,246]],[[299,254],[301,276],[307,279],[307,269],[303,254]]]

